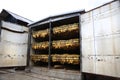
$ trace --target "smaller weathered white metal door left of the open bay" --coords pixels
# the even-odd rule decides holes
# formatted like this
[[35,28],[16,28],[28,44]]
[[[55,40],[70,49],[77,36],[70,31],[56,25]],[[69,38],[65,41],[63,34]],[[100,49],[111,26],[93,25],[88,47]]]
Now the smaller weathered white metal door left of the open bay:
[[[11,27],[11,25],[7,26]],[[26,66],[27,39],[27,33],[14,33],[4,29],[1,30],[0,67]]]

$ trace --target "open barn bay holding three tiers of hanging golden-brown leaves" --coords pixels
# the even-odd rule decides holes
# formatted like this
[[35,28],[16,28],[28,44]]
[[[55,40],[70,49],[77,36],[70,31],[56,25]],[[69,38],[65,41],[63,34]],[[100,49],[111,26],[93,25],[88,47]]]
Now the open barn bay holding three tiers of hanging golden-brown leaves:
[[[41,73],[43,75],[47,74],[48,76],[58,77],[64,80],[66,79],[80,80],[81,79],[81,76],[80,76],[80,71],[81,71],[80,70],[80,66],[81,66],[80,65],[80,61],[81,61],[80,46],[81,45],[80,44],[81,42],[79,38],[80,37],[80,34],[79,34],[80,13],[84,13],[84,10],[79,12],[58,15],[58,16],[51,16],[29,25],[29,28],[30,28],[29,50],[28,50],[29,54],[37,57],[38,56],[40,57],[46,54],[48,56],[47,60],[45,60],[45,58],[42,59],[42,57],[40,57],[41,59],[36,58],[37,61],[35,61],[31,58],[31,61],[33,62],[31,62],[30,66],[32,66],[33,68],[36,68],[36,65],[38,65],[40,69],[42,66],[49,68],[47,73],[45,69],[40,72],[34,69],[32,71]],[[47,30],[49,31],[47,32]],[[47,36],[44,36],[44,38],[41,36],[44,32],[47,33],[48,39],[46,39]],[[48,46],[47,47],[42,46],[41,44],[43,43],[45,44],[46,41]],[[35,45],[34,43],[37,43],[38,46]],[[31,44],[34,45],[33,48]],[[40,49],[41,46],[44,47],[45,49],[44,50]],[[46,64],[45,62],[47,62],[48,65],[45,65]],[[57,70],[57,68],[60,68],[60,67],[61,67],[61,70],[63,71]],[[63,68],[69,69],[69,71],[72,71],[72,72],[64,71]],[[51,72],[53,71],[53,69],[56,70],[59,75],[54,75],[54,73]],[[74,74],[73,70],[77,71],[78,72],[77,75],[79,76]],[[70,73],[68,77],[67,77],[67,74],[65,74],[64,72]]]

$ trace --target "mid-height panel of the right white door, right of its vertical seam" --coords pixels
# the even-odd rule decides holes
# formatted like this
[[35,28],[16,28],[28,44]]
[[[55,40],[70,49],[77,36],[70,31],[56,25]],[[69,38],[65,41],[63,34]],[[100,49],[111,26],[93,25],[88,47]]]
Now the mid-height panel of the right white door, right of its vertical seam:
[[96,55],[114,55],[112,36],[104,36],[95,39]]

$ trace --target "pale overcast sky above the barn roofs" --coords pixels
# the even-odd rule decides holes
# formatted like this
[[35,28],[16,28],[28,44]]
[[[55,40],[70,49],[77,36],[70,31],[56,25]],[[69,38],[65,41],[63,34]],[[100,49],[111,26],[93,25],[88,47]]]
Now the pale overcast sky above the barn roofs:
[[0,0],[0,11],[9,10],[32,21],[78,11],[90,10],[112,0]]

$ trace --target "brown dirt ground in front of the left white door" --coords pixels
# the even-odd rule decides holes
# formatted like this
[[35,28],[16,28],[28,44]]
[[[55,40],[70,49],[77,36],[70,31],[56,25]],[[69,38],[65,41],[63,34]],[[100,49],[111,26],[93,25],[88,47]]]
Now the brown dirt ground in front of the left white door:
[[62,80],[25,71],[0,70],[0,80]]

